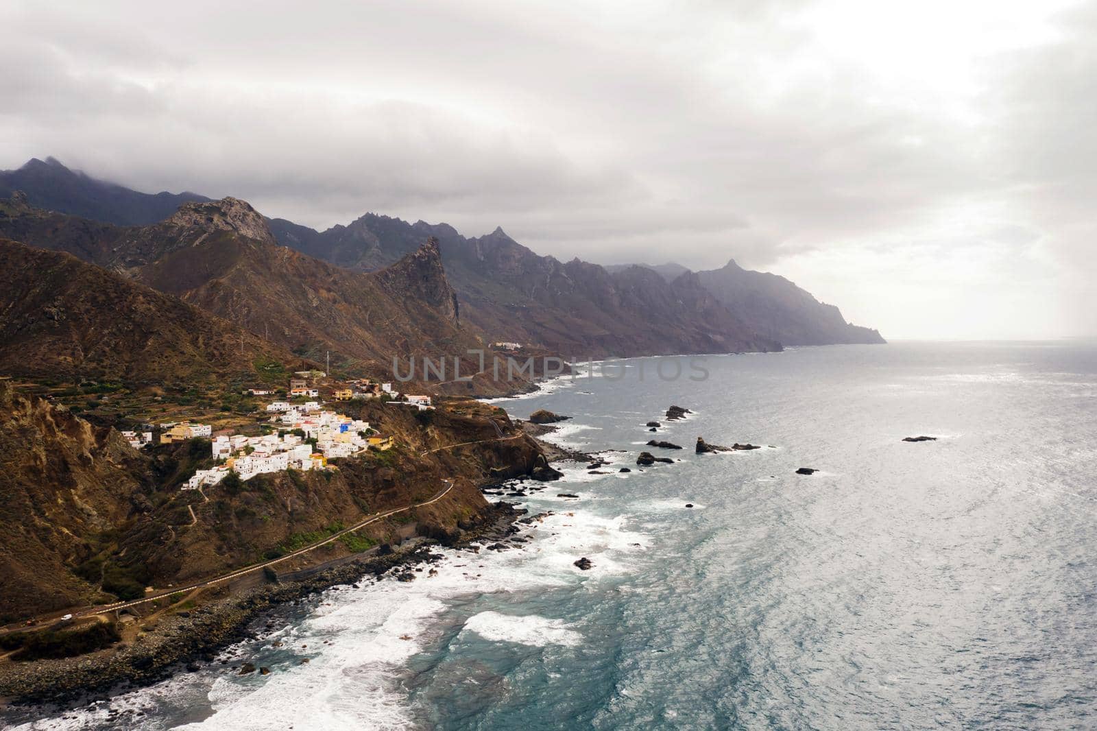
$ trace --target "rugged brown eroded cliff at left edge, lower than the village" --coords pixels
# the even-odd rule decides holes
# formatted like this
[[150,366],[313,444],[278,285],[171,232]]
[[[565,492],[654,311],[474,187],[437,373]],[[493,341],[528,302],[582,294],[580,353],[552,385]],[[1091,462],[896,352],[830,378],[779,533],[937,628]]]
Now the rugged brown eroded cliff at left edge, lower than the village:
[[114,429],[0,381],[0,619],[101,596],[73,569],[152,509],[149,464]]

